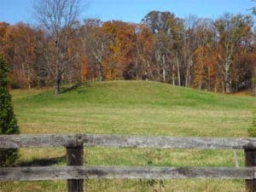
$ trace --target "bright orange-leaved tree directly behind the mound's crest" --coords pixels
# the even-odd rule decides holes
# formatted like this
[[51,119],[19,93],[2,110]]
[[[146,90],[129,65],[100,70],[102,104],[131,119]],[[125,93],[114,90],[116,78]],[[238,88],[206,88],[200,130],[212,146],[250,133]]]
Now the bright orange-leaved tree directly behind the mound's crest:
[[133,79],[137,71],[135,27],[129,23],[113,20],[103,23],[101,31],[105,42],[102,46],[105,52],[102,63],[105,78]]

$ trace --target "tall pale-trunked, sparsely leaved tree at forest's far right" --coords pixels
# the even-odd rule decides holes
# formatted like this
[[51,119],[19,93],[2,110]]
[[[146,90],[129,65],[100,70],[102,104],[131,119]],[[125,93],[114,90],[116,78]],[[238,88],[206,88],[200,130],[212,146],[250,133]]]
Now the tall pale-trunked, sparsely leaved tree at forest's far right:
[[225,14],[215,22],[218,31],[218,69],[223,75],[224,91],[231,91],[231,69],[234,58],[241,51],[240,45],[251,35],[252,18],[243,15]]

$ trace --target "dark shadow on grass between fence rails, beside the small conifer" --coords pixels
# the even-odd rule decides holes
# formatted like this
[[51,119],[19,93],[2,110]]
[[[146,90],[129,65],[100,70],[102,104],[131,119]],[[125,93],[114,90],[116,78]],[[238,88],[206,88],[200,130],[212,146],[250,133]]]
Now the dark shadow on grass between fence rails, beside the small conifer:
[[66,156],[49,158],[49,159],[34,159],[29,161],[23,161],[17,164],[17,166],[52,166],[55,164],[64,163]]

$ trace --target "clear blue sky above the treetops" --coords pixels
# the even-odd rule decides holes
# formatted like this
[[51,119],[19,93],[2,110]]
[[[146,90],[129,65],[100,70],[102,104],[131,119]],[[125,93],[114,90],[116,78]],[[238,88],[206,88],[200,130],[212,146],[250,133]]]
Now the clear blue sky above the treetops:
[[[85,0],[82,0],[85,2]],[[140,22],[151,10],[171,11],[179,17],[189,14],[216,19],[224,12],[249,14],[251,0],[87,0],[82,18]],[[33,23],[32,0],[0,0],[0,20],[14,24]]]

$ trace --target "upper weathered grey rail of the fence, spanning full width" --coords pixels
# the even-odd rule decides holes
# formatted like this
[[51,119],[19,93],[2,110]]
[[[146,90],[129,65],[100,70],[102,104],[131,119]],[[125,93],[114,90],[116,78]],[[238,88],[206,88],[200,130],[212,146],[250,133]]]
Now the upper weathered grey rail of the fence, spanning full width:
[[79,143],[82,143],[84,147],[102,146],[114,148],[256,148],[256,138],[236,137],[143,137],[93,134],[0,136],[0,148],[75,147]]

